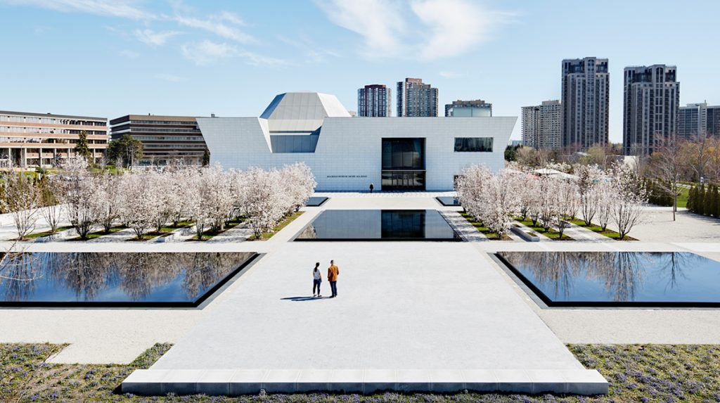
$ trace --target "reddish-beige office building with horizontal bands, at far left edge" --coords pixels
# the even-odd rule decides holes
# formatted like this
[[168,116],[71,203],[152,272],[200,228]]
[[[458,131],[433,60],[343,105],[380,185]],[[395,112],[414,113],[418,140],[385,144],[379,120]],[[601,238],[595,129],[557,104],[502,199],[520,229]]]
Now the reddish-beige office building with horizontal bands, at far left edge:
[[57,166],[76,156],[81,132],[95,162],[107,148],[107,118],[0,111],[0,164],[29,168]]

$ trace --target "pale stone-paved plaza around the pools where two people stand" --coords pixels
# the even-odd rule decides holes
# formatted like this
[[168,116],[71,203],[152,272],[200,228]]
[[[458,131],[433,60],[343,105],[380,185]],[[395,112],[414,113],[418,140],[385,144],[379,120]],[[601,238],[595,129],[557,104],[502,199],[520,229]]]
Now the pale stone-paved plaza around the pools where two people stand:
[[[677,250],[720,261],[718,220],[681,211],[672,222],[667,209],[649,209],[652,219],[631,232],[636,242],[599,242],[590,235],[540,243],[465,235],[469,242],[292,242],[323,209],[438,209],[456,228],[464,225],[451,219],[459,217],[458,207],[434,199],[449,193],[319,195],[330,200],[306,207],[266,242],[242,242],[235,230],[206,243],[27,244],[34,251],[264,256],[197,309],[0,309],[0,322],[12,324],[0,327],[0,343],[68,343],[50,358],[58,363],[128,363],[153,343],[174,343],[156,371],[569,371],[582,366],[564,343],[720,343],[717,309],[547,308],[489,255]],[[0,235],[12,234],[7,216],[0,223]],[[331,258],[341,268],[339,296],[313,299],[311,268],[320,261],[324,277]],[[323,293],[329,294],[327,281]]]

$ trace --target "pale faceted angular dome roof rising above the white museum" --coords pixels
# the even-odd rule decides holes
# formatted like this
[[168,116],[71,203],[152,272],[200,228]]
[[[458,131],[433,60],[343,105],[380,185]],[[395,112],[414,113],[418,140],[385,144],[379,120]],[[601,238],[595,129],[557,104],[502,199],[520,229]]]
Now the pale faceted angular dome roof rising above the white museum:
[[350,117],[337,97],[319,92],[286,92],[275,96],[265,112],[271,132],[312,132],[325,117]]

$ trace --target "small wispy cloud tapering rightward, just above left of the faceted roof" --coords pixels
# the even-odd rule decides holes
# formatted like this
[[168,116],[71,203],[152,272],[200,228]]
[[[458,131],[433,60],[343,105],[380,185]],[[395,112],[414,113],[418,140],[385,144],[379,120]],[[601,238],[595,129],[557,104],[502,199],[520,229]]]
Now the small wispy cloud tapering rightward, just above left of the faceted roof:
[[186,43],[181,46],[182,55],[192,60],[197,65],[209,65],[217,60],[226,58],[243,58],[249,65],[266,67],[280,67],[288,65],[287,61],[277,58],[270,58],[247,50],[239,49],[228,43],[217,43],[210,40],[202,42]]

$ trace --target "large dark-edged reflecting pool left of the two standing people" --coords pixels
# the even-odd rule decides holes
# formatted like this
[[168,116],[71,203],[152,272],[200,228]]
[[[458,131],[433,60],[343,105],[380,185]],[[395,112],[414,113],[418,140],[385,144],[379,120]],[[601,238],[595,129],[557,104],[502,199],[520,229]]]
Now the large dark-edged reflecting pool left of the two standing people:
[[12,253],[0,306],[194,307],[256,253]]

